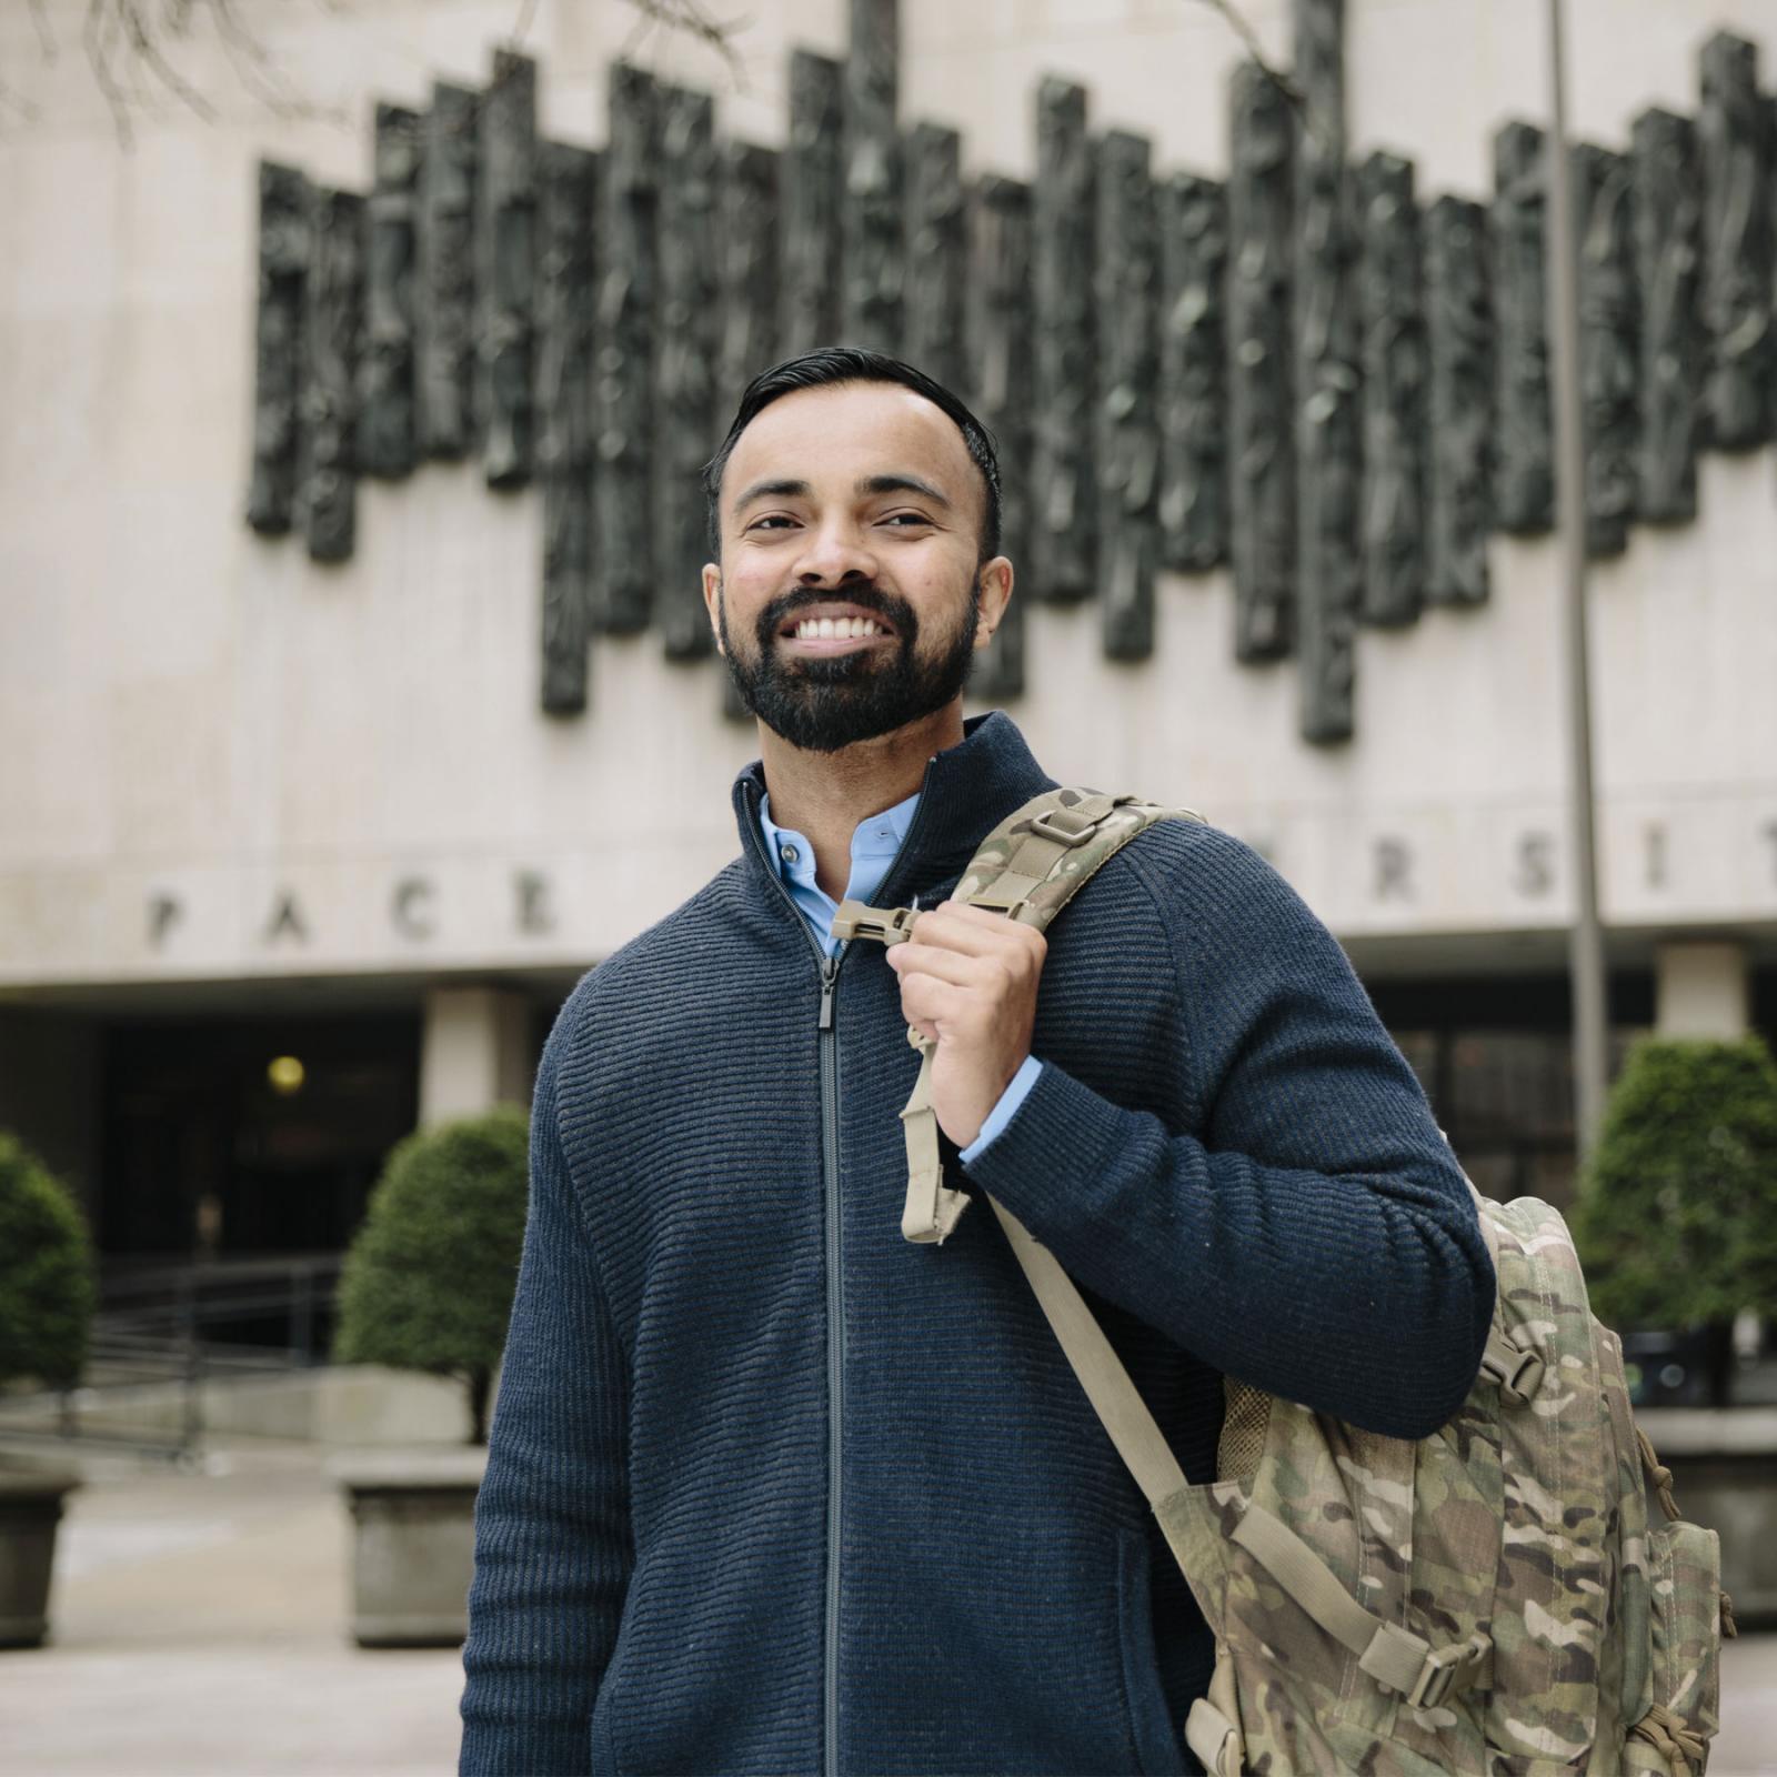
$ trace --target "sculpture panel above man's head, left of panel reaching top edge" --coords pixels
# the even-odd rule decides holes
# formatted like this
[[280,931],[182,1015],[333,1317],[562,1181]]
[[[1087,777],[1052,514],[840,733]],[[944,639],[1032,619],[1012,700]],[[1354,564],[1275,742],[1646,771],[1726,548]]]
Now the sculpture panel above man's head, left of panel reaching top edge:
[[844,208],[839,62],[796,50],[784,149],[784,325],[787,357],[839,339],[839,217]]

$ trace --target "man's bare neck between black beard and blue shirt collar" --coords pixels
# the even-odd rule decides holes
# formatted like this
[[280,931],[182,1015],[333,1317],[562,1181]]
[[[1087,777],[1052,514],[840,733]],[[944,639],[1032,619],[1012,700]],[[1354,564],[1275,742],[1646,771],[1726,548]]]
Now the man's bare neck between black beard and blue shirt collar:
[[837,753],[791,746],[761,721],[759,762],[771,796],[771,819],[807,837],[814,846],[814,880],[837,901],[851,876],[851,835],[858,823],[906,801],[926,782],[931,755],[956,746],[961,737],[960,697],[904,729],[857,741]]

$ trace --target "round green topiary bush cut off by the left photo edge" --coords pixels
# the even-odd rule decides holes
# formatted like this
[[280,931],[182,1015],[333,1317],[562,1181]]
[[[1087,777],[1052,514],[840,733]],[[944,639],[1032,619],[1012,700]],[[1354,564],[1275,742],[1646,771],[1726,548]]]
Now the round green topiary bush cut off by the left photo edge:
[[92,1235],[75,1194],[0,1130],[0,1386],[73,1388],[96,1311]]

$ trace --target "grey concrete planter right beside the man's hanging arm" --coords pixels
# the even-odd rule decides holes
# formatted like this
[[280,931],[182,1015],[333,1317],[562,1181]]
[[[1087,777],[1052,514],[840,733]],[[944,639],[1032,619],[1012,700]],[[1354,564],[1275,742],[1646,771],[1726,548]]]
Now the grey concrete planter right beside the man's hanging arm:
[[457,1647],[469,1631],[474,1494],[487,1450],[334,1457],[352,1512],[352,1638]]

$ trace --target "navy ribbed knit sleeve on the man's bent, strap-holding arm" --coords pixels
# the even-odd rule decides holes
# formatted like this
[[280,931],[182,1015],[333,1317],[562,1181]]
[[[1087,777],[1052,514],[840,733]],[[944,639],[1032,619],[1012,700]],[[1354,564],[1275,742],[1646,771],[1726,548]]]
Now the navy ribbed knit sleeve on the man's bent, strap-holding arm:
[[1418,1080],[1333,935],[1256,853],[1194,828],[1123,858],[1183,999],[1189,1127],[1045,1057],[970,1178],[1075,1281],[1214,1368],[1430,1436],[1473,1384],[1494,1281]]

